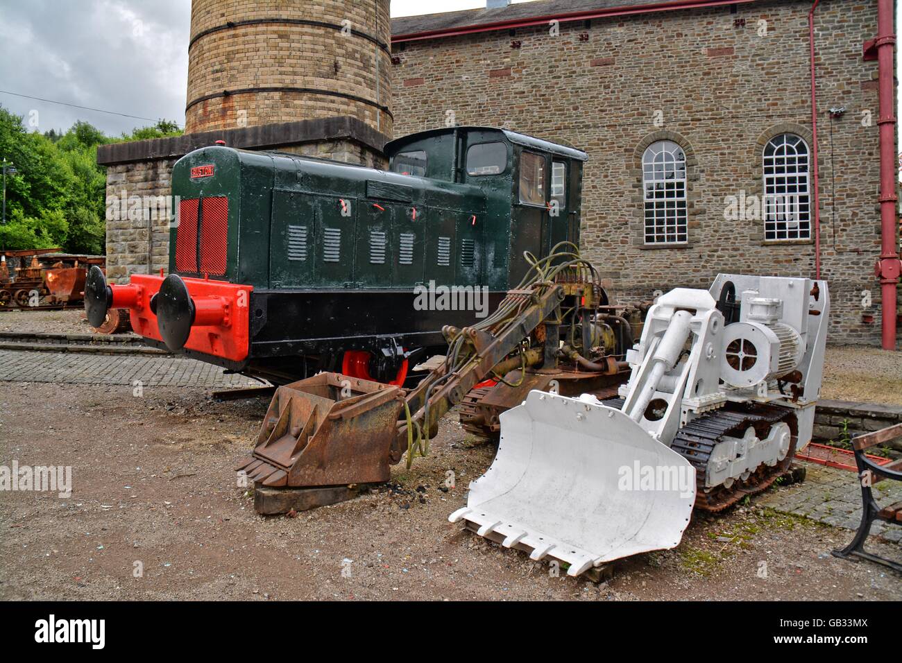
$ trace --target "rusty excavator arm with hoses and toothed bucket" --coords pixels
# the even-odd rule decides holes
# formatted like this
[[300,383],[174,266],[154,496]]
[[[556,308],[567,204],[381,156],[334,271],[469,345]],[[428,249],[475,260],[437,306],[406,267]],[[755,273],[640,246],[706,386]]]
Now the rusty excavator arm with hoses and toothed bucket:
[[[340,502],[362,485],[388,481],[390,465],[405,452],[409,464],[425,455],[439,419],[487,378],[516,387],[519,382],[505,376],[522,382],[534,367],[555,373],[562,358],[574,355],[596,373],[622,371],[604,345],[594,346],[593,316],[603,290],[592,265],[576,253],[557,253],[533,262],[530,274],[488,318],[472,327],[444,327],[445,362],[413,390],[341,373],[279,387],[251,458],[237,468],[256,485],[257,511]],[[564,349],[561,329],[571,336]],[[606,361],[590,362],[572,345]]]

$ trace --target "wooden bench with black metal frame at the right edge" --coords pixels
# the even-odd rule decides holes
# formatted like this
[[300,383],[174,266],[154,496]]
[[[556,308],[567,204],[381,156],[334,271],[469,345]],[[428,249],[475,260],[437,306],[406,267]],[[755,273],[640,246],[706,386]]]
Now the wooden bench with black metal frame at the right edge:
[[867,449],[897,437],[902,437],[902,424],[852,437],[851,446],[855,450],[855,464],[858,465],[858,478],[861,482],[861,502],[863,505],[861,525],[858,526],[858,531],[855,533],[855,538],[852,539],[851,543],[840,550],[833,550],[833,555],[843,558],[855,556],[869,559],[871,562],[889,566],[902,573],[902,564],[899,562],[894,562],[885,557],[878,557],[864,549],[864,541],[868,538],[870,526],[874,520],[883,520],[902,525],[902,502],[895,502],[880,508],[878,503],[874,501],[874,494],[871,491],[871,486],[874,483],[884,479],[902,481],[902,458],[888,465],[877,465],[865,454]]

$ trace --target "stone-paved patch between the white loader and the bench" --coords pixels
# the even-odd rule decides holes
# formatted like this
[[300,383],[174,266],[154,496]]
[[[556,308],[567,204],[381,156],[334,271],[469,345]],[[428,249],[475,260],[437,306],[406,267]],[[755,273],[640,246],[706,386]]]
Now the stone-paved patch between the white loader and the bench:
[[[827,525],[858,529],[861,522],[861,484],[856,474],[807,461],[798,463],[805,465],[807,472],[803,483],[771,488],[755,498],[755,503]],[[881,481],[872,490],[874,499],[881,506],[902,500],[902,483],[897,481]],[[878,520],[871,526],[870,533],[897,542],[902,547],[902,527],[899,525]]]

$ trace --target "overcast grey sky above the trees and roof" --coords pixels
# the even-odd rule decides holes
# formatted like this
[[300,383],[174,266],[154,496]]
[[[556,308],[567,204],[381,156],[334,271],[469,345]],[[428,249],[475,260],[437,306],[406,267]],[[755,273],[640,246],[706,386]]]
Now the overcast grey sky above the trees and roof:
[[[106,134],[130,132],[161,117],[184,124],[190,5],[190,0],[0,0],[0,105],[41,132],[66,130],[79,119]],[[484,5],[484,0],[392,0],[391,15]]]

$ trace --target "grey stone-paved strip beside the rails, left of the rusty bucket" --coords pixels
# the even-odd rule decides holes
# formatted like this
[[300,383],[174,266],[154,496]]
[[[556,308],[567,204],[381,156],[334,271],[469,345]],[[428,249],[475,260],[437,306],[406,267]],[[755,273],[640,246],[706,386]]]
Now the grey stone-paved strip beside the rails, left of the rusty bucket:
[[244,387],[260,382],[226,375],[220,366],[186,357],[85,355],[0,350],[0,381],[128,384],[146,387]]

